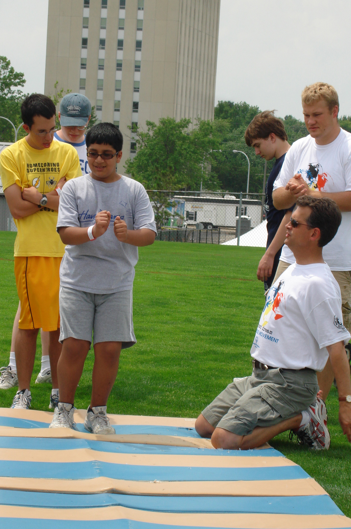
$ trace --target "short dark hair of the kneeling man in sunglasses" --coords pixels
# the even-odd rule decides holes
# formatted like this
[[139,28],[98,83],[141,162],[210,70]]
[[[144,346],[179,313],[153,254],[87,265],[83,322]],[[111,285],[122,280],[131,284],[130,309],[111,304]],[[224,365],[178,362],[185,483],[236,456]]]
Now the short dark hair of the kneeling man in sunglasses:
[[297,199],[296,205],[311,208],[306,222],[311,227],[320,229],[318,246],[328,244],[335,237],[341,223],[341,212],[334,200],[303,195]]

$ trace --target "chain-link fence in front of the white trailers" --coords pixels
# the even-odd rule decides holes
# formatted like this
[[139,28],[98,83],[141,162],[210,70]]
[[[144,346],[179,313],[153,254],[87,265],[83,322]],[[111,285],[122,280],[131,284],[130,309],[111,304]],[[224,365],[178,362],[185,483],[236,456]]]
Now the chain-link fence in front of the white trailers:
[[266,246],[262,193],[148,190],[159,241]]

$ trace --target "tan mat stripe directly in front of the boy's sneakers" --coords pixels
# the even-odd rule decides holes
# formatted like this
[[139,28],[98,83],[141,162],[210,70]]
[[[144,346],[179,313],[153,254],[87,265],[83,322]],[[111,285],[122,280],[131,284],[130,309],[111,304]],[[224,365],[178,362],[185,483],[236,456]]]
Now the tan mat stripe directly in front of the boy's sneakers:
[[13,428],[0,426],[0,437],[41,437],[42,439],[89,439],[91,441],[108,441],[111,443],[155,444],[163,446],[187,446],[188,448],[213,448],[209,439],[176,437],[172,435],[96,435],[77,432],[70,428]]

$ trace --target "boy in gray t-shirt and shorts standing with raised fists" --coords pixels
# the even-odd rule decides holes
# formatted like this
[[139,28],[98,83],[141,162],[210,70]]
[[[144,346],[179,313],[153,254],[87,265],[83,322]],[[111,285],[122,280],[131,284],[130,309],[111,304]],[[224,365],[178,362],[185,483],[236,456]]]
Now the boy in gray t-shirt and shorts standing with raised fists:
[[94,331],[93,389],[85,428],[111,434],[107,399],[116,380],[121,349],[136,342],[132,288],[138,246],[156,236],[144,187],[116,173],[123,136],[111,123],[86,135],[90,175],[66,183],[57,231],[67,244],[60,267],[59,403],[50,428],[74,428],[74,398]]

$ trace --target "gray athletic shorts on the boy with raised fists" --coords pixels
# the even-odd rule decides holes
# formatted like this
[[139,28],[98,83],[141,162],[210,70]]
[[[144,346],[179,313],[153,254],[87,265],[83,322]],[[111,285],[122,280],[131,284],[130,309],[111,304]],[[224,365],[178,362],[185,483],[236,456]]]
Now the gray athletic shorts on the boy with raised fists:
[[133,330],[133,291],[91,294],[60,286],[60,342],[67,338],[122,342],[122,349],[136,343]]

